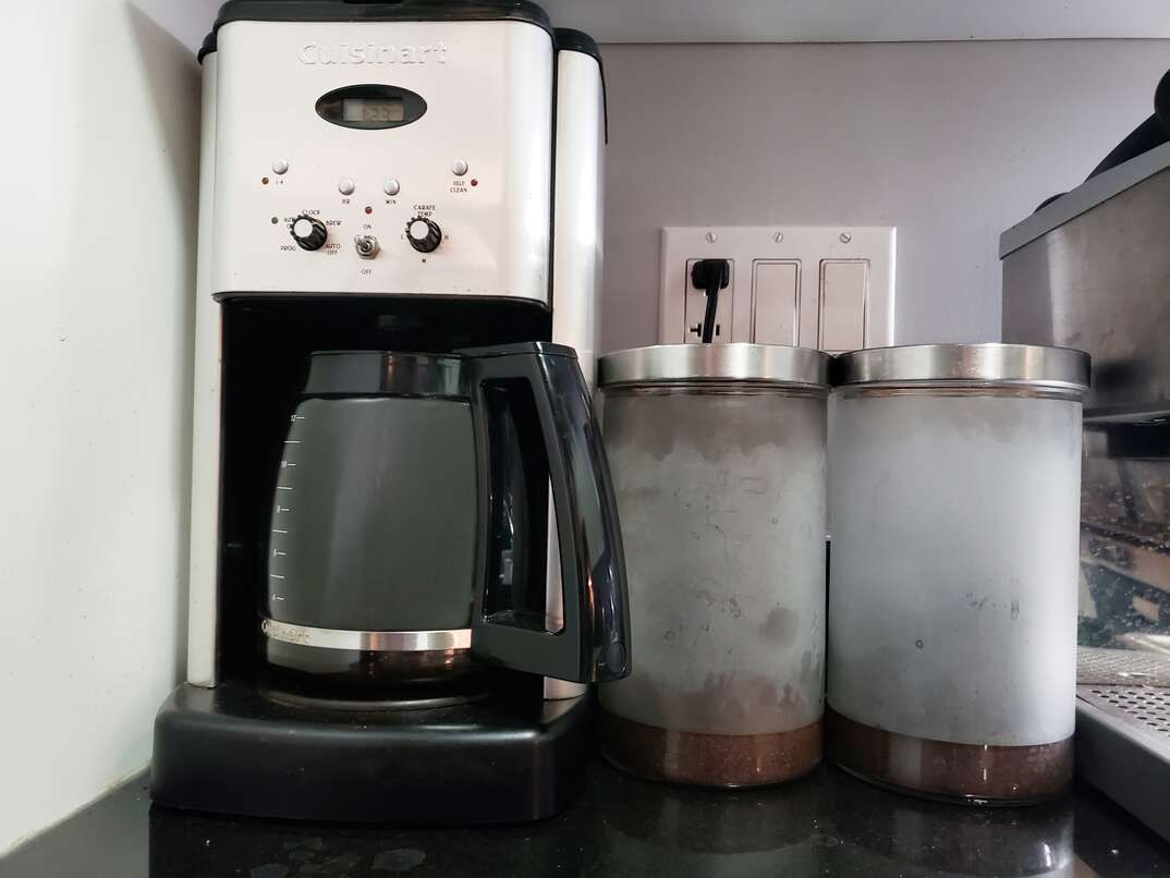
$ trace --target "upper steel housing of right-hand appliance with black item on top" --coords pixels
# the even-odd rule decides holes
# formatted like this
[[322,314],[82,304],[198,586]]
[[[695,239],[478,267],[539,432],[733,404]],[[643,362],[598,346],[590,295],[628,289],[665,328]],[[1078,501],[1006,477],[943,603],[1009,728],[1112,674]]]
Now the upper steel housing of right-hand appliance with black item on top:
[[1085,183],[999,236],[1003,341],[1092,355],[1089,421],[1170,414],[1170,71],[1154,110]]

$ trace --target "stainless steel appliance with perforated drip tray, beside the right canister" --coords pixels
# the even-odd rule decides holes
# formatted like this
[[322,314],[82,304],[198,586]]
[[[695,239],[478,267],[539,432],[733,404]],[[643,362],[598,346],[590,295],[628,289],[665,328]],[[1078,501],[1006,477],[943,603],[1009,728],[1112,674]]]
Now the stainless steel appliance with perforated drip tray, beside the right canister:
[[1170,74],[1156,110],[1000,256],[1004,341],[1093,357],[1076,769],[1170,838]]

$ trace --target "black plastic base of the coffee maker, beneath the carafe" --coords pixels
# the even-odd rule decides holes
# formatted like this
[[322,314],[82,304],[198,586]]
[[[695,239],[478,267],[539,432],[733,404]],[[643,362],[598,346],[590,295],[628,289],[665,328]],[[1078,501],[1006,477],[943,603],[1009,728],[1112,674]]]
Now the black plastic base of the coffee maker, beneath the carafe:
[[184,684],[154,720],[151,797],[290,819],[537,821],[576,796],[590,722],[589,695],[355,712],[285,704],[246,682]]

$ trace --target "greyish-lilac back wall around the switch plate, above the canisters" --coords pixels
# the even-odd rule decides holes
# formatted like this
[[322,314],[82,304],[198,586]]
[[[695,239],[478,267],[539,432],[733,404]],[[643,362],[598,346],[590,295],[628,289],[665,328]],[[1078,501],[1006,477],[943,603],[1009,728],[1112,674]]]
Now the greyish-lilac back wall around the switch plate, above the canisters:
[[897,226],[900,343],[999,337],[999,233],[1152,112],[1170,41],[605,46],[603,350],[653,344],[659,228]]

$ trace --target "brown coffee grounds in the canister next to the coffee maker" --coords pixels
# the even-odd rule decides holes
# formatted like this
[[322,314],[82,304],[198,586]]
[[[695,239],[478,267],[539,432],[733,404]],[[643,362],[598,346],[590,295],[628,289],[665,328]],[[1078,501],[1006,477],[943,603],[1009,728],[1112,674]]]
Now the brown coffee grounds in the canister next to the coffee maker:
[[702,787],[762,787],[812,771],[821,722],[791,732],[711,735],[658,728],[601,712],[601,750],[631,774]]

